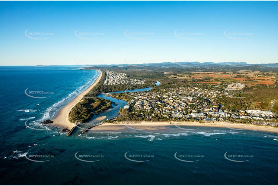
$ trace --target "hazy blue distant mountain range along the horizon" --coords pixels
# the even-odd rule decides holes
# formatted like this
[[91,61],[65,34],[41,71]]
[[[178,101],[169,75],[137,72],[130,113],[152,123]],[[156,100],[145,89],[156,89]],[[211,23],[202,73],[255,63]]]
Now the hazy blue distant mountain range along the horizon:
[[144,63],[144,64],[120,64],[120,65],[92,65],[97,67],[110,67],[110,68],[119,68],[125,67],[126,69],[144,69],[146,67],[151,68],[169,68],[169,67],[185,67],[185,68],[194,68],[194,67],[246,67],[246,66],[262,66],[262,67],[276,67],[278,68],[278,63],[268,63],[268,64],[247,64],[246,62],[204,62],[199,63],[196,61],[190,62],[163,62],[163,63]]

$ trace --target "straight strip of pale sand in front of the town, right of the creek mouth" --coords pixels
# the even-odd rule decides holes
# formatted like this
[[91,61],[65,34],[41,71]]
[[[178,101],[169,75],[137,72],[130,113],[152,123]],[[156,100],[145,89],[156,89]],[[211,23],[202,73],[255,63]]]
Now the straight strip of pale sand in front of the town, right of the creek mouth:
[[[185,130],[182,128],[186,128],[186,126],[190,127],[212,127],[212,128],[227,128],[231,130],[252,130],[252,131],[262,131],[262,132],[272,132],[272,133],[278,133],[278,127],[272,127],[272,126],[259,126],[259,125],[253,125],[253,124],[241,124],[241,123],[230,123],[230,122],[206,122],[206,123],[200,123],[200,122],[146,122],[141,121],[137,123],[131,123],[128,122],[119,122],[119,123],[104,123],[100,126],[94,127],[91,130],[102,130],[102,131],[108,131],[108,130],[121,130],[121,129],[127,129],[127,128],[135,128],[135,129],[141,129],[141,130],[161,130],[166,129],[167,126],[174,126],[178,129]],[[179,128],[180,127],[180,128]],[[193,129],[193,130],[192,130]],[[194,128],[189,128],[189,130],[194,131]]]

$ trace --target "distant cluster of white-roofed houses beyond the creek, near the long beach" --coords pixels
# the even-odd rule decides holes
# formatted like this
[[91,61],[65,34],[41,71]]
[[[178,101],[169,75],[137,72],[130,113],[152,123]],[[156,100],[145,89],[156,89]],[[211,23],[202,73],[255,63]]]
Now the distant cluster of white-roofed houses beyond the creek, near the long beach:
[[139,79],[129,79],[126,77],[126,74],[124,73],[116,73],[112,72],[110,70],[105,70],[106,77],[104,81],[104,85],[127,85],[127,84],[133,84],[133,85],[140,85],[144,84],[144,80]]

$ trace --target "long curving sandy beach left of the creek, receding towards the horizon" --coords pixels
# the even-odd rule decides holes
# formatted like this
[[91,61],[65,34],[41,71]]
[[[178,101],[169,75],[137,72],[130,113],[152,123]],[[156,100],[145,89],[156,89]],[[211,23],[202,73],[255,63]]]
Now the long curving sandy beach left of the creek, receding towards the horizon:
[[102,72],[100,70],[97,71],[99,71],[100,74],[97,77],[97,79],[94,81],[94,83],[90,85],[85,91],[77,95],[72,101],[66,104],[66,106],[62,107],[61,110],[59,110],[57,117],[52,119],[54,125],[58,126],[59,128],[72,129],[72,127],[74,127],[74,123],[71,123],[69,121],[69,112],[79,101],[81,101],[84,95],[86,95],[95,85],[97,85],[97,83],[99,82],[102,76]]

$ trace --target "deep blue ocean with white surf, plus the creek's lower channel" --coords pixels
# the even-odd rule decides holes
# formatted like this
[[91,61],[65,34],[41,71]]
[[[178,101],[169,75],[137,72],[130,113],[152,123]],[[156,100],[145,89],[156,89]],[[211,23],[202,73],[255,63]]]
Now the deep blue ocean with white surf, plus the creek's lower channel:
[[[278,184],[274,133],[171,126],[86,134],[78,129],[66,136],[55,127],[32,130],[24,125],[27,119],[53,117],[97,76],[97,71],[77,66],[0,67],[2,184]],[[32,98],[26,89],[34,97],[50,97]],[[125,104],[113,101],[115,110]],[[114,115],[108,110],[95,117]]]

